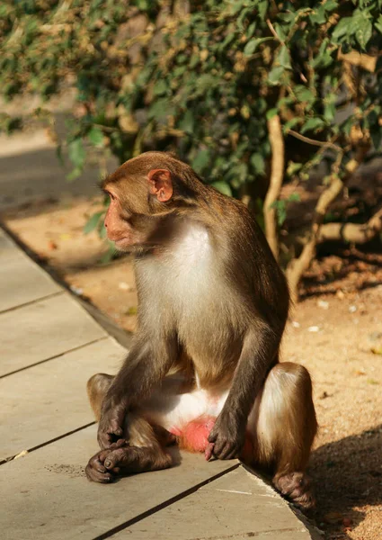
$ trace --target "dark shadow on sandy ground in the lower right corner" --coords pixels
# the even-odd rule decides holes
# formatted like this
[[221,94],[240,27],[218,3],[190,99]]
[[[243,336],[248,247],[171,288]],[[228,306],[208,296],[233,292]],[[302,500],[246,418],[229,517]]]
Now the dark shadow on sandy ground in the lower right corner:
[[317,448],[309,473],[315,483],[317,526],[327,538],[351,538],[365,506],[382,504],[382,424]]

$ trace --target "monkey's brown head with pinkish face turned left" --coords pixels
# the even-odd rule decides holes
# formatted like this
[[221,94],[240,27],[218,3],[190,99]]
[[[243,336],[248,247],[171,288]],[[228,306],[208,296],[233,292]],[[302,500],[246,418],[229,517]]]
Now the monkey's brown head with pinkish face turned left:
[[102,182],[110,206],[108,238],[120,251],[152,247],[169,232],[168,217],[191,205],[200,181],[190,166],[165,152],[130,159]]

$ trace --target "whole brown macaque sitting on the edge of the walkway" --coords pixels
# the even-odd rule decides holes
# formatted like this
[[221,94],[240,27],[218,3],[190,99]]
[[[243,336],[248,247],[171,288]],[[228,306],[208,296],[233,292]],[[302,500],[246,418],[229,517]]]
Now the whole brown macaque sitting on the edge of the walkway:
[[164,152],[130,159],[102,190],[108,238],[134,254],[138,331],[120,372],[88,382],[101,446],[88,478],[170,467],[177,443],[269,471],[311,507],[312,385],[279,362],[289,290],[256,220]]

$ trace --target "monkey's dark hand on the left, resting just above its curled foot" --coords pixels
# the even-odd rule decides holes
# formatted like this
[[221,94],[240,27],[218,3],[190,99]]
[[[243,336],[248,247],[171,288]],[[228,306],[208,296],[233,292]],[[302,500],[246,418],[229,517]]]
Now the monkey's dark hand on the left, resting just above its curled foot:
[[123,437],[127,409],[125,403],[113,406],[107,399],[103,401],[97,433],[98,444],[101,448],[108,448]]

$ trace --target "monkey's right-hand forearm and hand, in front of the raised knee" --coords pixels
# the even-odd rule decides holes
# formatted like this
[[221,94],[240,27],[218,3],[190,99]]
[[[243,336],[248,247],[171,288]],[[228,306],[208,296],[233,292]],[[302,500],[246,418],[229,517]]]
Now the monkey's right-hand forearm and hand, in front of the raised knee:
[[254,400],[275,361],[280,337],[262,321],[249,329],[223,410],[209,434],[218,459],[238,457],[244,446],[245,428]]

